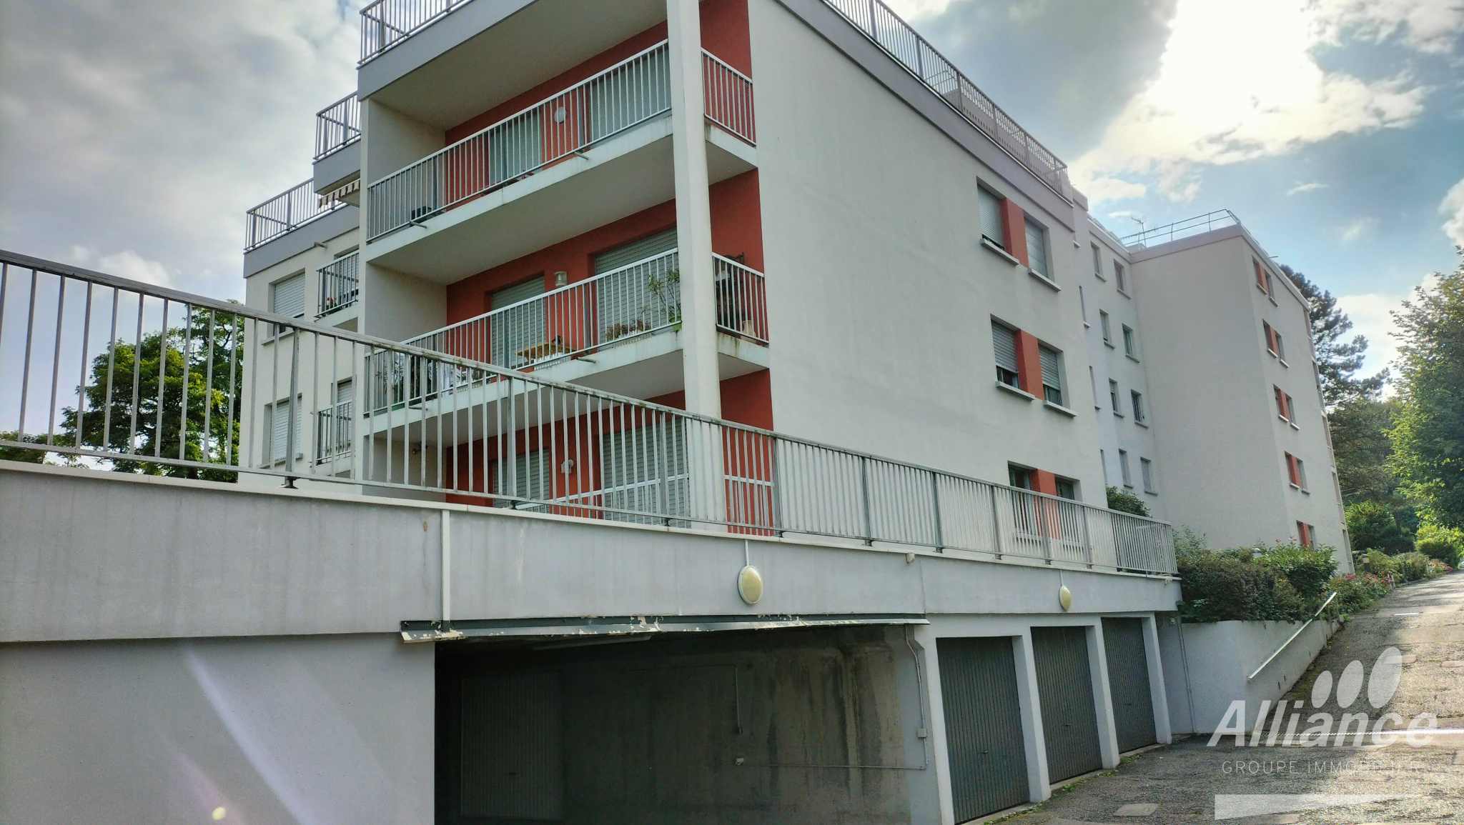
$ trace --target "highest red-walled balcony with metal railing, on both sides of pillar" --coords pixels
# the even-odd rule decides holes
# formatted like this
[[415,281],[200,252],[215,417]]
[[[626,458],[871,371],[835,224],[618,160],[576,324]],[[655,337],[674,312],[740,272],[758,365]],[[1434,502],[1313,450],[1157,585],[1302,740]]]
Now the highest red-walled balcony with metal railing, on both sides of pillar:
[[[755,168],[752,82],[703,54],[709,177]],[[367,260],[452,282],[675,197],[665,41],[367,189]]]

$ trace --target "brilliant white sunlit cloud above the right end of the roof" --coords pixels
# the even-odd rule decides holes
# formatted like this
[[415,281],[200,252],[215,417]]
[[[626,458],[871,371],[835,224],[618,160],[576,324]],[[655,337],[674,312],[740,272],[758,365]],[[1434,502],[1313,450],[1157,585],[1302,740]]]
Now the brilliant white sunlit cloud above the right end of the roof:
[[1180,0],[1158,76],[1073,164],[1075,183],[1099,193],[1148,176],[1161,195],[1189,200],[1206,165],[1407,126],[1423,111],[1426,89],[1407,73],[1323,70],[1313,48],[1325,31],[1316,6]]

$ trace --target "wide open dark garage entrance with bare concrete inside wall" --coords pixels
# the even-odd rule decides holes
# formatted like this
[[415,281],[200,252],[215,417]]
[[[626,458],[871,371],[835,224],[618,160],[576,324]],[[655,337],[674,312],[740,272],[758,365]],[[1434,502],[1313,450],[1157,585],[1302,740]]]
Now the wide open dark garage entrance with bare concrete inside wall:
[[911,657],[873,625],[439,644],[438,822],[909,822]]

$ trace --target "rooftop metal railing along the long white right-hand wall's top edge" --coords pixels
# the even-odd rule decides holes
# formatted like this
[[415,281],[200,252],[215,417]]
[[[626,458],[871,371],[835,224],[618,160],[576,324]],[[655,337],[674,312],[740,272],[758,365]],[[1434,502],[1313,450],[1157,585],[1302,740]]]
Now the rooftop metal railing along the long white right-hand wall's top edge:
[[946,60],[881,0],[824,0],[921,83],[1064,199],[1073,197],[1067,164]]

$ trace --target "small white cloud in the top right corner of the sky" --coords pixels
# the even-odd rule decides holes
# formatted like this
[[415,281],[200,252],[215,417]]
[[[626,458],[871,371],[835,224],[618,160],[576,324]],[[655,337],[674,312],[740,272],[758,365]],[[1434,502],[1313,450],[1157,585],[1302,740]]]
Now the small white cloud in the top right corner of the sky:
[[1426,54],[1448,54],[1464,32],[1464,3],[1458,0],[1313,0],[1319,37],[1338,44],[1344,37],[1383,42],[1397,38]]

